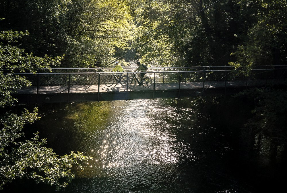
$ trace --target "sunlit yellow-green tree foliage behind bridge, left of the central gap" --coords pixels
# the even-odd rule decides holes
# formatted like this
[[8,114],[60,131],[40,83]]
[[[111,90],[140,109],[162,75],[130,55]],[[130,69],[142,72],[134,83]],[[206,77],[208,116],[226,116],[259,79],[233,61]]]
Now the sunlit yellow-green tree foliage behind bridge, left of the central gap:
[[133,22],[122,1],[78,0],[69,3],[68,9],[64,53],[79,67],[111,62],[115,49],[131,38]]

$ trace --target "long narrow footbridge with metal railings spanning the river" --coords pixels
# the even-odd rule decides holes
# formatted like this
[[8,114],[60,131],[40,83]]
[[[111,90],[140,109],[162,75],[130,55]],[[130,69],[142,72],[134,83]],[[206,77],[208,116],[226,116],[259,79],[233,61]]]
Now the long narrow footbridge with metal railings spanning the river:
[[[131,99],[180,98],[206,95],[228,95],[252,87],[282,86],[286,66],[255,66],[251,70],[234,70],[230,66],[149,68],[145,77],[152,79],[149,88],[113,84],[104,79],[113,68],[52,68],[25,76],[32,86],[23,87],[13,96],[18,103],[71,103]],[[132,78],[135,68],[117,72]]]

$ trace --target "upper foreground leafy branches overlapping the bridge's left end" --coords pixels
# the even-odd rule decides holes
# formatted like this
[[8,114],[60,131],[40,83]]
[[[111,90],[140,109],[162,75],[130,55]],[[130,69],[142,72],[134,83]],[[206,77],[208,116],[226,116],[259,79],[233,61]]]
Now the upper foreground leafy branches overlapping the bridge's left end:
[[16,101],[11,93],[19,90],[22,86],[30,85],[30,82],[24,77],[13,75],[15,70],[25,72],[25,69],[29,69],[30,73],[35,73],[35,68],[49,68],[51,65],[59,65],[61,61],[61,57],[50,58],[47,55],[43,58],[36,57],[13,45],[17,44],[17,39],[26,35],[28,35],[27,32],[13,30],[0,32],[0,107],[11,105]]

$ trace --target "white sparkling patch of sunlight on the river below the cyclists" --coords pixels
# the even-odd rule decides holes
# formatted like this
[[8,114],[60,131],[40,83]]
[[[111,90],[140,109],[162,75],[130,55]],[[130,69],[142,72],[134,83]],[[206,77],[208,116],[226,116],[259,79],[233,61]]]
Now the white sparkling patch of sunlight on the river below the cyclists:
[[[128,107],[115,102],[113,111],[118,112],[117,116],[109,118],[109,123],[112,124],[102,133],[102,144],[97,154],[99,157],[96,157],[100,167],[134,167],[139,163],[178,162],[180,156],[170,143],[174,141],[174,136],[163,129],[168,128],[169,125],[162,125],[161,119],[154,121],[153,117],[149,116],[149,113],[154,114],[159,111],[157,106],[143,103],[148,101],[137,100]],[[170,113],[168,108],[160,111]],[[121,117],[120,121],[118,117]]]

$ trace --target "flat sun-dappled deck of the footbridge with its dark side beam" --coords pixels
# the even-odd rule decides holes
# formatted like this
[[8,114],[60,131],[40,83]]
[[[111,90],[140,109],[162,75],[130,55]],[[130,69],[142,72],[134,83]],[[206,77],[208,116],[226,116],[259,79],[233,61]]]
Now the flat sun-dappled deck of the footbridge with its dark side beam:
[[[68,86],[29,86],[24,87],[14,94],[20,103],[59,103],[79,101],[110,101],[110,100],[131,100],[131,99],[154,99],[190,97],[208,94],[232,94],[246,87],[260,87],[266,85],[282,85],[284,79],[267,80],[236,80],[217,82],[178,82],[156,83],[150,88],[136,86],[126,89],[126,86],[117,84],[114,87],[92,85]],[[38,92],[37,92],[38,89]],[[204,91],[204,92],[202,92]]]

